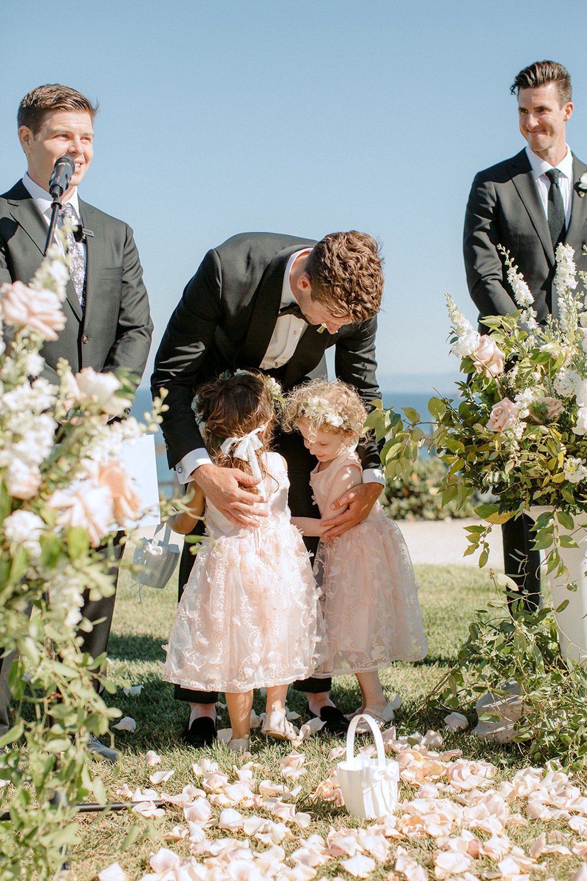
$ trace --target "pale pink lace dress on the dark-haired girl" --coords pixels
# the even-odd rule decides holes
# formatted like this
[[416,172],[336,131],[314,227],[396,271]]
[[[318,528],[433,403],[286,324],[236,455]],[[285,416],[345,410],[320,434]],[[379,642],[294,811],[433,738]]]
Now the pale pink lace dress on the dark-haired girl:
[[290,524],[282,458],[266,453],[268,517],[235,526],[206,506],[207,535],[181,596],[164,679],[209,692],[247,692],[312,675],[324,659],[319,588]]

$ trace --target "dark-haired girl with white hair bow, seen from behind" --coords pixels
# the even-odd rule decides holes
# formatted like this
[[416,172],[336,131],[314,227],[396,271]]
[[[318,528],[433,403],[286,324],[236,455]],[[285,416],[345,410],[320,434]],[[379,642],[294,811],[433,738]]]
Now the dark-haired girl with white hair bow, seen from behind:
[[[239,373],[197,390],[196,416],[213,461],[260,479],[268,513],[256,527],[228,521],[206,503],[206,535],[181,596],[167,648],[164,678],[187,688],[224,692],[231,717],[228,746],[246,751],[253,689],[267,689],[261,732],[293,740],[285,717],[288,684],[311,676],[323,630],[319,588],[297,529],[290,523],[285,460],[268,451],[273,421],[271,381]],[[202,513],[195,489],[190,514],[173,518],[187,533]]]

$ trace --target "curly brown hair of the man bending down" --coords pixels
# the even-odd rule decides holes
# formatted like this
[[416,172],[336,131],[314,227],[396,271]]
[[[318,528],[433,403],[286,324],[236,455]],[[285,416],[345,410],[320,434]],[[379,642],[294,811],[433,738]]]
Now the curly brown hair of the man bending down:
[[364,322],[378,314],[383,295],[383,257],[367,233],[330,233],[314,245],[305,265],[312,300],[334,318]]

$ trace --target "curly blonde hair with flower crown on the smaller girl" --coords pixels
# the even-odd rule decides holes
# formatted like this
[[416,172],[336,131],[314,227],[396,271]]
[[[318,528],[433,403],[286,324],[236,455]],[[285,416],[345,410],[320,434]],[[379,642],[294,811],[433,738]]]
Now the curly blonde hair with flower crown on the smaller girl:
[[[338,418],[342,421],[335,425]],[[311,435],[315,432],[341,434],[353,444],[366,436],[363,428],[366,418],[367,409],[356,389],[346,382],[318,379],[297,386],[286,396],[281,427],[284,432],[294,432],[300,420],[305,419]]]

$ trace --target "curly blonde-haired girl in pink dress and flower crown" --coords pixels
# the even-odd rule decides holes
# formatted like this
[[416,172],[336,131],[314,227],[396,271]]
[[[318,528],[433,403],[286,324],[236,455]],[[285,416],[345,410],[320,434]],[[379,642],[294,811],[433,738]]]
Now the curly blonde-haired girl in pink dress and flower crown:
[[[321,516],[344,492],[360,484],[357,442],[367,411],[344,382],[314,380],[285,401],[282,428],[297,430],[318,459],[311,483]],[[305,536],[327,530],[319,518],[294,517]],[[340,537],[320,541],[314,574],[322,586],[327,661],[315,677],[355,673],[363,696],[357,713],[391,722],[378,670],[392,661],[418,661],[428,651],[414,569],[396,523],[379,502],[361,523]]]

